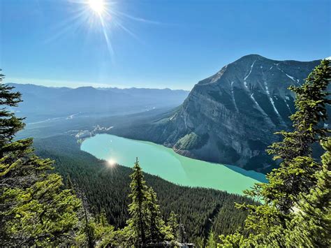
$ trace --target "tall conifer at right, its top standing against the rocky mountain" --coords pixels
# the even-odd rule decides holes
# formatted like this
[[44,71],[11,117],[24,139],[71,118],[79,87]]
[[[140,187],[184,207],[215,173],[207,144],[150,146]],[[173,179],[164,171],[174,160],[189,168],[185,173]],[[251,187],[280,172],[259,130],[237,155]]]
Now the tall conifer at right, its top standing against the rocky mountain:
[[277,204],[287,214],[300,192],[308,192],[316,183],[314,172],[321,166],[311,159],[311,145],[326,136],[328,130],[318,125],[327,116],[326,105],[330,104],[328,85],[331,78],[330,61],[325,59],[316,66],[301,87],[290,87],[295,92],[296,112],[291,115],[294,131],[281,131],[280,143],[270,146],[268,152],[281,159],[281,165],[267,176],[269,184],[263,184],[263,199]]

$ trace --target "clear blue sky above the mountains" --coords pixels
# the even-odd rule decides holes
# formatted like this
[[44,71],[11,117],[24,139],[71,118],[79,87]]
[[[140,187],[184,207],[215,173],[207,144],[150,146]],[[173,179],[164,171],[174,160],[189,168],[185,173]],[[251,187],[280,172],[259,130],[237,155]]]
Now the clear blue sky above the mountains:
[[331,55],[331,1],[1,0],[5,82],[191,89],[246,54]]

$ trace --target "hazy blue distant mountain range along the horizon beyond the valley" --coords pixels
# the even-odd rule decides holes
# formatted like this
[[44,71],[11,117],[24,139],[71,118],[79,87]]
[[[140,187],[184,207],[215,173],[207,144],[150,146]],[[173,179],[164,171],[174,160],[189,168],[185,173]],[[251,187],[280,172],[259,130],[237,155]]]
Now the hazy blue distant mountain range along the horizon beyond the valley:
[[22,93],[17,115],[27,122],[70,115],[110,116],[173,108],[183,103],[189,92],[172,89],[44,87],[10,83]]

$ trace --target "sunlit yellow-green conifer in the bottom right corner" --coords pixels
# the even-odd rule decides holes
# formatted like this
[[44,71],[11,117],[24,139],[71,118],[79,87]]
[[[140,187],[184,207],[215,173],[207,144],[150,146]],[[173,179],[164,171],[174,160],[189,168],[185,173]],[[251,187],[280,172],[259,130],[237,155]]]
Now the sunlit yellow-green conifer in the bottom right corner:
[[323,167],[315,173],[317,183],[309,194],[301,194],[297,215],[286,233],[288,245],[328,247],[331,243],[331,138],[321,144],[325,149]]

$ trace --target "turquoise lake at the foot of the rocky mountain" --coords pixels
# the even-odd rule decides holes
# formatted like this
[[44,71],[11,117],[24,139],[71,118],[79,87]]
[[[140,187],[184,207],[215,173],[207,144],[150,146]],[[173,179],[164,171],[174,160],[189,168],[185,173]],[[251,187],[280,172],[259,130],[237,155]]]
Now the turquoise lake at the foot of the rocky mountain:
[[265,175],[255,171],[191,159],[163,145],[110,134],[97,134],[87,138],[80,148],[98,159],[105,159],[110,167],[115,166],[115,163],[133,167],[135,157],[138,157],[140,166],[146,173],[183,186],[242,194],[244,189],[249,189],[254,183],[266,182]]

